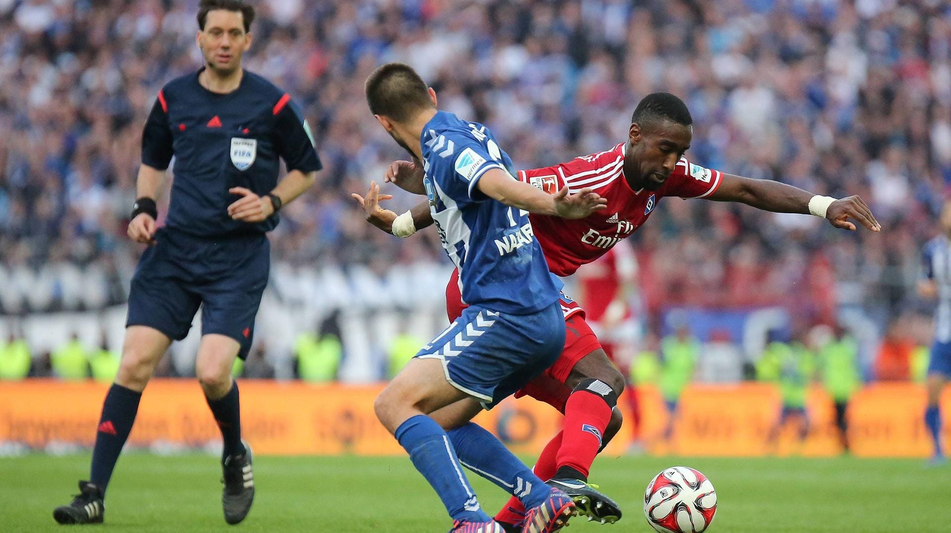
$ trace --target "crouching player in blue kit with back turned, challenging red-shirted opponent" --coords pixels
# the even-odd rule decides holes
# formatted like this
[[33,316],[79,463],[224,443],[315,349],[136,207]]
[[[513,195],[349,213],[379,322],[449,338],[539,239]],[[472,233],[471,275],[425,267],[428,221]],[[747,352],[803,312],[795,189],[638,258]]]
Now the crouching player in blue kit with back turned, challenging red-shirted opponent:
[[[468,421],[548,368],[564,344],[561,282],[548,271],[528,213],[580,219],[605,200],[590,189],[547,195],[515,180],[492,132],[438,111],[436,93],[412,67],[378,67],[365,88],[379,124],[416,162],[415,179],[402,186],[428,197],[470,304],[380,392],[377,416],[436,489],[454,533],[503,533],[460,465],[521,500],[528,509],[523,532],[556,531],[573,515],[572,499]],[[458,401],[466,409],[454,409],[457,419],[445,424],[450,415],[437,411]],[[454,429],[445,431],[434,416]]]

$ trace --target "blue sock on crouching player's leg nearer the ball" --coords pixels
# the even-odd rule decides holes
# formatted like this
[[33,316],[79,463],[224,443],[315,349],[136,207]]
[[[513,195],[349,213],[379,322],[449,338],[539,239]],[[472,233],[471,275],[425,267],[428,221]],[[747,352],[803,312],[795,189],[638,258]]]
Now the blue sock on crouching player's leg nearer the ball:
[[548,499],[551,488],[478,424],[450,429],[449,438],[462,465],[514,495],[526,509]]

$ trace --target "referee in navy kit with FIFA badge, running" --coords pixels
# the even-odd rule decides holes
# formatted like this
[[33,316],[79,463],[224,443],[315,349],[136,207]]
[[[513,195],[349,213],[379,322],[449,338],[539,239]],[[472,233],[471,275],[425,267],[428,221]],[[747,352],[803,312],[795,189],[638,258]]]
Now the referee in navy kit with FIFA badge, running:
[[[254,499],[251,450],[241,439],[235,357],[251,344],[267,283],[266,232],[281,205],[313,182],[320,160],[290,97],[242,68],[254,8],[242,0],[202,0],[198,47],[204,67],[159,91],[142,140],[137,196],[128,237],[148,245],[132,277],[126,340],[106,395],[89,481],[57,507],[58,523],[101,523],[112,469],[132,429],[139,399],[172,339],[188,333],[202,306],[195,372],[222,430],[223,507],[240,523]],[[165,227],[155,200],[175,156]],[[279,157],[288,173],[278,183]]]

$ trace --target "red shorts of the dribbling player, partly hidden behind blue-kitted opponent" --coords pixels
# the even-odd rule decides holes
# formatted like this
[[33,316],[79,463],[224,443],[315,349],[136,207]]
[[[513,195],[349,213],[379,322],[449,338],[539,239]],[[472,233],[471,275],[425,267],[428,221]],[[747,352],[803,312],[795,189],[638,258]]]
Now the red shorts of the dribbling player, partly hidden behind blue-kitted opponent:
[[[462,301],[459,290],[459,273],[454,270],[446,285],[446,314],[452,322],[469,307]],[[515,392],[516,398],[532,396],[559,411],[565,410],[572,390],[565,386],[574,365],[582,357],[601,348],[601,342],[585,321],[585,310],[573,299],[561,294],[561,311],[565,314],[565,348],[554,364],[534,378],[521,390]]]

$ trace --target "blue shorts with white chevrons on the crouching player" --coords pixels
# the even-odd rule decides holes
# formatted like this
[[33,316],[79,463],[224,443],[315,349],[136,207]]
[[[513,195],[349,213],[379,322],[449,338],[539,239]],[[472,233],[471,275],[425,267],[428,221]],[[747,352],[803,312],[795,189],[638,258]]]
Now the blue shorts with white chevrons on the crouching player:
[[558,300],[534,314],[471,305],[416,356],[440,359],[450,384],[492,409],[551,367],[564,346]]

